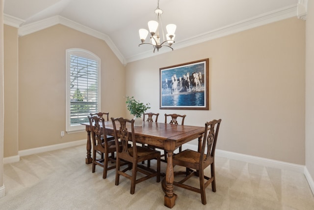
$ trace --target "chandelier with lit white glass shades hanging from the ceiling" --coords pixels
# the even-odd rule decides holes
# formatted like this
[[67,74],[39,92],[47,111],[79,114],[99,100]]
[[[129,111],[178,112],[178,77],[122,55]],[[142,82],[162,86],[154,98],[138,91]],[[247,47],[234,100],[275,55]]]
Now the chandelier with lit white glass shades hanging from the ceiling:
[[150,42],[149,43],[145,42],[145,39],[148,35],[148,30],[140,29],[140,30],[138,30],[138,32],[139,32],[139,37],[140,37],[142,43],[139,44],[138,46],[140,46],[142,44],[153,45],[154,53],[155,53],[156,49],[157,49],[157,51],[159,51],[159,49],[161,47],[164,47],[164,46],[170,47],[173,50],[171,45],[175,42],[174,39],[175,39],[175,31],[176,31],[177,26],[174,24],[168,24],[166,26],[167,34],[166,34],[166,39],[165,39],[164,32],[162,29],[162,23],[161,23],[161,14],[162,13],[163,13],[163,11],[162,11],[162,9],[159,8],[159,0],[158,0],[157,8],[155,9],[157,21],[149,21],[148,22],[148,29],[149,29],[149,32],[151,34]]

